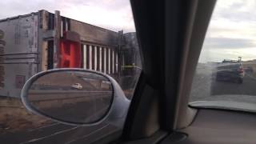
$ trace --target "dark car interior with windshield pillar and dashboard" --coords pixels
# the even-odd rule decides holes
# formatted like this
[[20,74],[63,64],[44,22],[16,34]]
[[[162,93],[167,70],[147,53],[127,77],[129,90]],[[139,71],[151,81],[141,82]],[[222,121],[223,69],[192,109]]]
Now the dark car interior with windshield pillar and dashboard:
[[188,106],[216,1],[130,2],[143,71],[119,142],[254,143],[254,114]]

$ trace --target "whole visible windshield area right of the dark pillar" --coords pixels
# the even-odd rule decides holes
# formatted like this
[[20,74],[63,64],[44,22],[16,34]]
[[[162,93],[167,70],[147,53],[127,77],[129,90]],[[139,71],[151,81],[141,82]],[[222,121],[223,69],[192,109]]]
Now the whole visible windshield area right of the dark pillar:
[[217,2],[194,74],[190,105],[256,110],[255,6],[254,0]]

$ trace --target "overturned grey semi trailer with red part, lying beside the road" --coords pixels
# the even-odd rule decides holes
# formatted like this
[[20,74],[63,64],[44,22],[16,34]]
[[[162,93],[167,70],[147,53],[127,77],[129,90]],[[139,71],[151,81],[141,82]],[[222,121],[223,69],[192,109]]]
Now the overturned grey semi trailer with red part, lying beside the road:
[[122,49],[130,45],[125,39],[122,30],[79,22],[59,11],[39,10],[2,19],[0,96],[19,98],[28,78],[54,68],[98,70],[122,81],[127,65]]

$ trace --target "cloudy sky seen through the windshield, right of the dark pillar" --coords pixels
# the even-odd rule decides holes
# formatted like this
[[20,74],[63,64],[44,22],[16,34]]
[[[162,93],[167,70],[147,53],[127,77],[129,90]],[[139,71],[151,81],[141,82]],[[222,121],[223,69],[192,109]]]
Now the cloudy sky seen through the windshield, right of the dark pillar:
[[199,62],[256,59],[256,1],[219,0],[214,8]]

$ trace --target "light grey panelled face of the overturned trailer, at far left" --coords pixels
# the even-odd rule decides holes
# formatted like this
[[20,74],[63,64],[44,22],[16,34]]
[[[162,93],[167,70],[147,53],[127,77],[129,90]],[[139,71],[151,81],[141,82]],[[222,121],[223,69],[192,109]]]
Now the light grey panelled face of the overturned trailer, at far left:
[[38,15],[0,22],[0,96],[19,97],[23,84],[38,72]]

